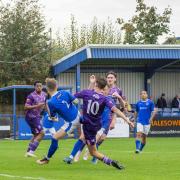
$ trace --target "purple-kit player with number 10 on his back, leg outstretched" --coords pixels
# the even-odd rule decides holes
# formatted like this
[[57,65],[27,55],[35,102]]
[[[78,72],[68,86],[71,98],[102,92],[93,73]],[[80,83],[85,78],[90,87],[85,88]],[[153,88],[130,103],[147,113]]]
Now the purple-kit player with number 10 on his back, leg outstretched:
[[134,126],[129,119],[115,107],[113,102],[103,95],[106,85],[106,80],[102,78],[97,79],[94,90],[83,90],[76,93],[75,97],[83,99],[82,129],[90,154],[101,160],[103,163],[121,170],[124,167],[120,165],[118,161],[106,157],[98,152],[96,148],[96,134],[101,128],[101,116],[106,106],[122,117],[130,126]]

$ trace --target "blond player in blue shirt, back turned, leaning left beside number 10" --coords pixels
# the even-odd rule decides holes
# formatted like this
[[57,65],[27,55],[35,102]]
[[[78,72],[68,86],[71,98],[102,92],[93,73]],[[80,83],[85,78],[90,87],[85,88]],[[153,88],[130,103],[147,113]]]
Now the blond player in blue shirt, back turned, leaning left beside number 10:
[[47,101],[47,111],[50,117],[53,119],[58,114],[65,120],[65,124],[53,135],[46,157],[37,160],[38,164],[49,162],[58,149],[58,140],[73,131],[79,125],[80,120],[80,113],[74,105],[74,103],[78,103],[76,97],[67,91],[57,91],[57,81],[55,79],[47,78],[46,87],[48,94],[51,96]]

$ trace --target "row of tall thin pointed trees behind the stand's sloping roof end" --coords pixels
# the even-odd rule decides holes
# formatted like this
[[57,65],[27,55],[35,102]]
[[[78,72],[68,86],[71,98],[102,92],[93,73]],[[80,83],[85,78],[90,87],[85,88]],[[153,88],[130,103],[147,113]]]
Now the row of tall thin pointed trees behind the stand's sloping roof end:
[[75,17],[71,15],[70,25],[65,28],[63,36],[60,33],[56,35],[52,46],[52,57],[55,61],[87,44],[119,43],[121,43],[121,32],[110,18],[106,22],[99,23],[95,17],[90,25],[78,26]]

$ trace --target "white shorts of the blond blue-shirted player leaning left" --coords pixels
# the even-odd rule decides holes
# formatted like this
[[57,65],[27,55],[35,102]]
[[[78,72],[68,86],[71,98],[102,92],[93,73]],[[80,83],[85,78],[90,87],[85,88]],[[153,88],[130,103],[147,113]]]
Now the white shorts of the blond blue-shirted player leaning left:
[[66,122],[64,123],[64,125],[61,127],[61,129],[63,129],[67,134],[71,134],[74,129],[76,129],[79,124],[80,124],[80,113],[78,112],[78,115],[76,117],[76,119],[74,119],[73,121],[71,122]]

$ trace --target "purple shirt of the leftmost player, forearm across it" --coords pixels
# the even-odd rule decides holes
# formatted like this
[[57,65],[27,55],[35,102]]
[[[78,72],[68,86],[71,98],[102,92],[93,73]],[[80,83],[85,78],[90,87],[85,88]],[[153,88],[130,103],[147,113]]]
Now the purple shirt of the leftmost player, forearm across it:
[[[33,106],[39,103],[45,103],[45,100],[46,100],[45,92],[42,91],[40,94],[37,94],[36,91],[34,91],[30,95],[28,95],[25,105]],[[26,110],[25,115],[27,119],[40,119],[41,112],[42,112],[42,109],[34,108],[34,109]]]

